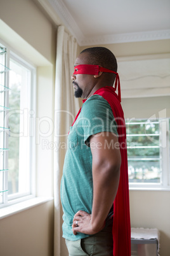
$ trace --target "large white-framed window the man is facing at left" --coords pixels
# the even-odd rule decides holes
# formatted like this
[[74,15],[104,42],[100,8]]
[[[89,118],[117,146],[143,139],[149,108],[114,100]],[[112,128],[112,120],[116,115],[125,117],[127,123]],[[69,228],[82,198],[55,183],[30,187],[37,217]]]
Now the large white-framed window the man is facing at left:
[[1,44],[0,47],[0,207],[3,207],[34,195],[35,68],[10,48]]

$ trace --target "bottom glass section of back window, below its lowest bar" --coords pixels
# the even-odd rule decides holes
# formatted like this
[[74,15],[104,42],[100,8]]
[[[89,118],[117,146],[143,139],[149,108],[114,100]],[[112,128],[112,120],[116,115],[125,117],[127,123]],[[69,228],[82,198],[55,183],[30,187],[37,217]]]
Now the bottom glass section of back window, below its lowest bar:
[[160,183],[161,169],[158,160],[128,160],[129,182]]

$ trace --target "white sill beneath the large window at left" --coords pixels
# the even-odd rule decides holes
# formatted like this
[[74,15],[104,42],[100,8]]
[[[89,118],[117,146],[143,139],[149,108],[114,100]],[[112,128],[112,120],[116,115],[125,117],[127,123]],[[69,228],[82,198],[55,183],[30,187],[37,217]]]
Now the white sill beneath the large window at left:
[[51,200],[53,200],[53,197],[34,197],[32,199],[23,201],[21,203],[6,206],[4,208],[1,208],[0,220],[2,218],[9,217],[9,216],[11,216],[15,213],[20,213],[21,211],[25,211],[29,208],[32,208],[32,207],[37,206],[39,204],[46,203],[46,202],[51,201]]

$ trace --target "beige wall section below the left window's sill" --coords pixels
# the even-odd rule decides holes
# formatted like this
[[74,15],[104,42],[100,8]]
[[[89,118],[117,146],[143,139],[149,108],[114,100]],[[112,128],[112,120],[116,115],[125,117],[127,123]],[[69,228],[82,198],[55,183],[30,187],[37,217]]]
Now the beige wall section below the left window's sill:
[[1,256],[53,255],[53,201],[0,220]]

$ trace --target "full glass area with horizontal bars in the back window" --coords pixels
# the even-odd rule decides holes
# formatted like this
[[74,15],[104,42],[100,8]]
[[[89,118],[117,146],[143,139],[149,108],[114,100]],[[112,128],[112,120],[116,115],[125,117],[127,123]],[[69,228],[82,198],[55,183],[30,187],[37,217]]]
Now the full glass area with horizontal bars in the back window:
[[126,127],[129,182],[160,183],[159,121],[133,120]]

